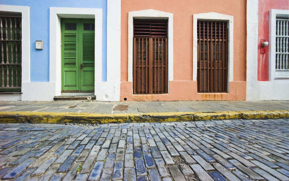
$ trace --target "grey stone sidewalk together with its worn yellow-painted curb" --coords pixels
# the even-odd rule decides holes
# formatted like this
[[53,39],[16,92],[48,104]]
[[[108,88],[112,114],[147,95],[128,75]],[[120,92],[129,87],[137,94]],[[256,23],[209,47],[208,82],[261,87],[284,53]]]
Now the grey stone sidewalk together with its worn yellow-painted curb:
[[[130,123],[289,117],[289,101],[0,102],[2,123]],[[15,121],[16,120],[16,121]]]

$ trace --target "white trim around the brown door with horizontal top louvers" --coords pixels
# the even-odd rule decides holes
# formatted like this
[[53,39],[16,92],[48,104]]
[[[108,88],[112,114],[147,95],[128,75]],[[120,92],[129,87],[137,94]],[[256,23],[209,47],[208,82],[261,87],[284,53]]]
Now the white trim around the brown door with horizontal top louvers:
[[173,14],[147,9],[129,12],[128,18],[128,82],[132,82],[133,70],[133,19],[168,19],[168,81],[173,81],[174,54],[173,54]]

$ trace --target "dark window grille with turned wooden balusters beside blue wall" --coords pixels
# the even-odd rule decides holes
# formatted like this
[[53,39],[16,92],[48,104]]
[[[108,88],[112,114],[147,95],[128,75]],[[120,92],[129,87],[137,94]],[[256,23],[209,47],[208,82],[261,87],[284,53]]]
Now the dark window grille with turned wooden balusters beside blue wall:
[[21,91],[21,16],[0,15],[0,92]]

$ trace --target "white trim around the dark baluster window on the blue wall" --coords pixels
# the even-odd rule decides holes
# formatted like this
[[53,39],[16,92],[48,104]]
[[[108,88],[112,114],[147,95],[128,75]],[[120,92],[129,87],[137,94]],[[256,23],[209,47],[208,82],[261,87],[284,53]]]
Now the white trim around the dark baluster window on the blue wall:
[[[11,5],[0,5],[0,11],[2,12],[17,12],[21,13],[22,16],[22,41],[21,41],[21,54],[22,54],[22,64],[21,64],[21,95],[20,100],[25,100],[25,97],[29,95],[31,92],[31,88],[23,87],[23,83],[30,82],[30,10],[29,6],[11,6]],[[20,95],[17,95],[15,99],[15,95],[6,94],[0,96],[0,100],[16,100],[20,98]]]

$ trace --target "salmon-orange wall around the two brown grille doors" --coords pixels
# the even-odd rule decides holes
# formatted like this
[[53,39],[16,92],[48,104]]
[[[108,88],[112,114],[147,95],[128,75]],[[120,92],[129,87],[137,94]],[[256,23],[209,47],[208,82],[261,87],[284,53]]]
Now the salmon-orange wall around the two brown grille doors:
[[[173,81],[169,94],[133,95],[128,81],[128,13],[154,9],[173,13]],[[197,93],[193,80],[193,14],[216,12],[234,16],[234,81],[229,93]],[[245,100],[246,99],[246,0],[122,0],[120,100]]]

